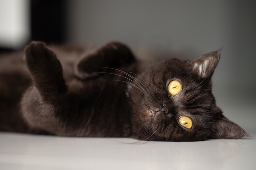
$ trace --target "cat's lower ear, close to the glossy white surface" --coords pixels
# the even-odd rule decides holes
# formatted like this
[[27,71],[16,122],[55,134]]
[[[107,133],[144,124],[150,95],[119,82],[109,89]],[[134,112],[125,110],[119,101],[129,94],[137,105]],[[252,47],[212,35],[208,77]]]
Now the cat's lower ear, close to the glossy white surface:
[[222,117],[217,121],[212,137],[221,139],[238,139],[244,136],[249,136],[245,130],[226,117]]

